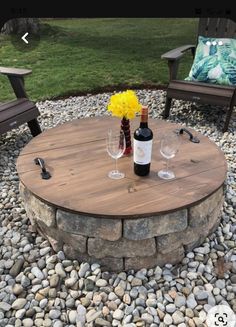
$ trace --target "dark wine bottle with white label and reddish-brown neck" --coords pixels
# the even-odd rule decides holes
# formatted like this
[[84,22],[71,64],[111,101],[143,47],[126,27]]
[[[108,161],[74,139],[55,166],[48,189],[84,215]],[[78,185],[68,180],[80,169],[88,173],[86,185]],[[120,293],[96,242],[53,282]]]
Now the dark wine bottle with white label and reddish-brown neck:
[[138,176],[146,176],[150,172],[152,156],[152,130],[148,127],[148,108],[141,109],[139,128],[134,131],[134,172]]

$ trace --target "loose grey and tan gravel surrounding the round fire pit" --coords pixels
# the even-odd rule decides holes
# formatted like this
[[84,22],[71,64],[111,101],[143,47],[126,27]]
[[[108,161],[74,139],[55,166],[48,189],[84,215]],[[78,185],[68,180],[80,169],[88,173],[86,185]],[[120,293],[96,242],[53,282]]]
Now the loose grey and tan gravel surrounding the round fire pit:
[[[161,118],[165,91],[138,90],[153,118]],[[72,119],[108,115],[111,93],[38,102],[43,130]],[[54,253],[26,216],[18,192],[16,159],[32,136],[26,124],[0,137],[0,327],[206,326],[209,309],[236,312],[236,116],[222,133],[220,107],[173,101],[169,121],[208,136],[228,163],[225,201],[217,230],[177,266],[120,273]],[[63,136],[62,136],[63,137]],[[227,261],[224,277],[216,260]]]

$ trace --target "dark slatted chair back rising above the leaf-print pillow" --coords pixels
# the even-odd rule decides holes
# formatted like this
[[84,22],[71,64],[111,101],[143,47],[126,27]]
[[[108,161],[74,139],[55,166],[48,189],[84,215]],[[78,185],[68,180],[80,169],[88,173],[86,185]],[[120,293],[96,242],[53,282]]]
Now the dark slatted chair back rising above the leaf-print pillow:
[[227,18],[200,18],[198,35],[206,37],[236,38],[236,23]]

